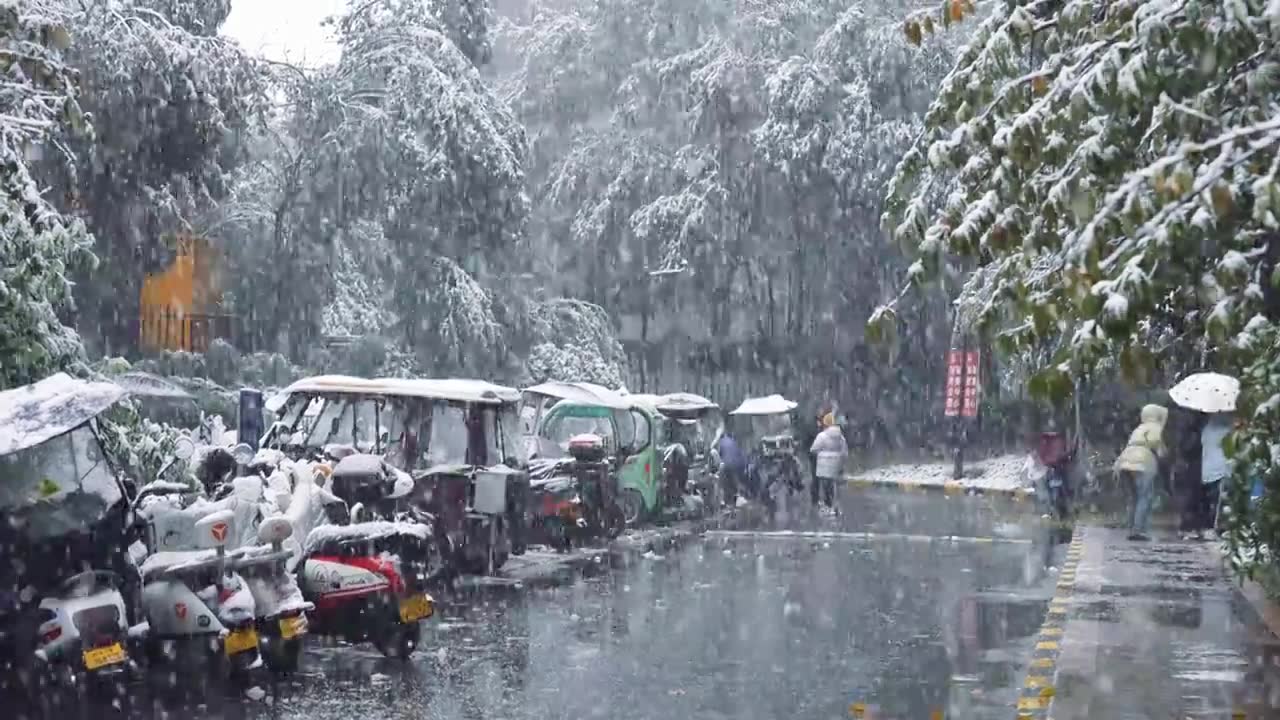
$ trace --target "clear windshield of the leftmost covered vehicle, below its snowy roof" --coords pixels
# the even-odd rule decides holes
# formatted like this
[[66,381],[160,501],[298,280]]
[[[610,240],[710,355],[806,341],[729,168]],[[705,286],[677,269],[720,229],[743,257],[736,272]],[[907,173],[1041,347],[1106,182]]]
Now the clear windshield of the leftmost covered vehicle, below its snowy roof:
[[88,530],[122,497],[87,424],[0,457],[0,512],[29,539]]

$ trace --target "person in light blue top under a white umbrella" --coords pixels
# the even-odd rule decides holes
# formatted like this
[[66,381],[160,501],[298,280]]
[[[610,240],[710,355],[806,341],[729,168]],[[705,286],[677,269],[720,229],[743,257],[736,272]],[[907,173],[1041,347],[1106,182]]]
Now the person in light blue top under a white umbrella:
[[1201,428],[1201,477],[1190,506],[1190,524],[1187,528],[1197,539],[1206,530],[1217,527],[1221,507],[1222,480],[1231,468],[1222,450],[1222,441],[1231,432],[1231,414],[1240,396],[1240,382],[1219,373],[1196,373],[1183,378],[1170,388],[1169,397],[1178,405],[1203,413],[1207,418]]

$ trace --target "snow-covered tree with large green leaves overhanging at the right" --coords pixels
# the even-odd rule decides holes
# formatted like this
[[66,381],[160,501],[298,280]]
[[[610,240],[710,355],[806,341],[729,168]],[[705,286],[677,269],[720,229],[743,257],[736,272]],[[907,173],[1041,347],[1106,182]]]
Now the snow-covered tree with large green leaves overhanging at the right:
[[[906,36],[919,44],[973,12],[948,0]],[[1162,328],[1181,340],[1161,360],[1198,348],[1197,364],[1251,368],[1245,383],[1262,387],[1247,397],[1268,392],[1277,38],[1280,5],[1262,0],[998,5],[888,191],[884,223],[919,255],[914,277],[951,259],[982,266],[979,325],[1009,351],[1056,348],[1032,383],[1041,395],[1112,355],[1143,377]],[[940,187],[946,200],[931,204]],[[1248,437],[1268,432],[1266,418]],[[1261,462],[1249,471],[1280,493],[1270,448],[1249,447]],[[1280,514],[1265,521],[1280,527]]]

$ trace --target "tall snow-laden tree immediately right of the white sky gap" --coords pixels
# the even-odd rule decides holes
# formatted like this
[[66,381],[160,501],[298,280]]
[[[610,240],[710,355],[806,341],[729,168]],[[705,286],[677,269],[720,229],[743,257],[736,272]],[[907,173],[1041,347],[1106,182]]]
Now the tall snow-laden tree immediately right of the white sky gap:
[[410,347],[458,364],[500,345],[480,282],[518,268],[525,136],[429,9],[408,5],[366,3],[339,18],[340,105],[317,108],[328,113],[319,150],[348,188],[338,227],[381,225],[383,284]]

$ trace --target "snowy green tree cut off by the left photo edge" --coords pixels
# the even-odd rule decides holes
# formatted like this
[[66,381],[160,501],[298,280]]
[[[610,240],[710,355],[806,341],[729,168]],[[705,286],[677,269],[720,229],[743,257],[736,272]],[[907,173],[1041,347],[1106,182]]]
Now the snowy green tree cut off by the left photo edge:
[[83,354],[59,314],[72,306],[68,275],[92,260],[91,237],[50,205],[28,169],[41,156],[72,165],[54,137],[86,131],[65,55],[69,22],[54,0],[0,0],[0,388]]

